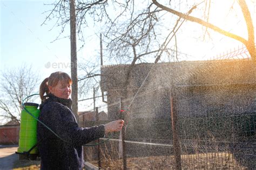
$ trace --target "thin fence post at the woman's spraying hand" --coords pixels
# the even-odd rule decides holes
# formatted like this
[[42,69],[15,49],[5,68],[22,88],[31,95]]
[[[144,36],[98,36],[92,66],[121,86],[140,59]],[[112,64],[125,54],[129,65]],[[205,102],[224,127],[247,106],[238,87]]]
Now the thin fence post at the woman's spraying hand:
[[[123,113],[124,110],[124,105],[123,105],[123,99],[120,98],[120,119],[123,119],[125,121],[125,115]],[[126,164],[126,146],[125,146],[125,127],[122,128],[122,149],[123,149],[123,169],[127,169],[127,164]]]

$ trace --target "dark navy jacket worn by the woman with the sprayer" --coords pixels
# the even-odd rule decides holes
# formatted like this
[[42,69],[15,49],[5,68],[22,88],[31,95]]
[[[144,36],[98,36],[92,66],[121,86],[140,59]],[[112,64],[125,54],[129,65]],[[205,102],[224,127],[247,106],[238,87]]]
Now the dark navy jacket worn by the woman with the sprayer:
[[71,111],[71,103],[71,99],[61,99],[50,94],[40,106],[39,120],[65,140],[59,139],[38,123],[37,140],[41,169],[82,169],[82,145],[104,137],[104,125],[78,127],[75,115]]

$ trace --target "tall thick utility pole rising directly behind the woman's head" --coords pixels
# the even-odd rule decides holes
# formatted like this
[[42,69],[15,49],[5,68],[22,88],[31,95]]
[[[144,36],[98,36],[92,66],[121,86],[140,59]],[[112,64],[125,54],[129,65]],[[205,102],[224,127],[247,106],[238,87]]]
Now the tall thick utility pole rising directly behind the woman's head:
[[70,0],[70,47],[72,79],[72,111],[78,119],[78,79],[77,79],[77,42],[76,42],[76,9],[75,0]]

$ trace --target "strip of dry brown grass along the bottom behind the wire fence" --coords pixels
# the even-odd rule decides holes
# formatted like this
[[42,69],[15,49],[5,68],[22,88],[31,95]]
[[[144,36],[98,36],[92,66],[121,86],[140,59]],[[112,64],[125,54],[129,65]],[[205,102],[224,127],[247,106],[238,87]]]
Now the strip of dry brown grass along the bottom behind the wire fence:
[[[91,161],[98,166],[97,161]],[[103,169],[122,169],[122,159],[104,159],[101,162]],[[183,169],[246,169],[240,166],[231,153],[200,153],[181,155]],[[153,156],[127,158],[129,169],[176,169],[174,156]]]

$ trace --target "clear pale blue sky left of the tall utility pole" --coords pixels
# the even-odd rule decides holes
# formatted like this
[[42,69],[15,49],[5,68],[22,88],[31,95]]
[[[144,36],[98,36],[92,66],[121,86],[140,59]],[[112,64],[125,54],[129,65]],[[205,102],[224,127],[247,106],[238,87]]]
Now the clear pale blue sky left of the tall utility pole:
[[1,69],[32,64],[46,76],[55,70],[45,67],[46,63],[69,59],[69,39],[51,43],[58,30],[49,31],[51,23],[41,26],[45,18],[42,13],[49,9],[44,3],[1,2]]

